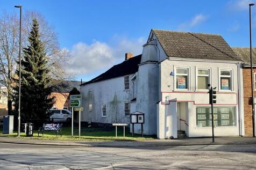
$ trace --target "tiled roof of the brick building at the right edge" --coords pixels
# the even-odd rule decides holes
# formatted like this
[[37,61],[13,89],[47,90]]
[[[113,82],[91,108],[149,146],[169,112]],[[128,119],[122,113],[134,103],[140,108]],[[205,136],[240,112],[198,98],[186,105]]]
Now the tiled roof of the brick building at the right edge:
[[[251,65],[250,48],[248,47],[233,47],[232,50],[245,62],[246,65]],[[256,65],[256,48],[252,48],[252,64]]]

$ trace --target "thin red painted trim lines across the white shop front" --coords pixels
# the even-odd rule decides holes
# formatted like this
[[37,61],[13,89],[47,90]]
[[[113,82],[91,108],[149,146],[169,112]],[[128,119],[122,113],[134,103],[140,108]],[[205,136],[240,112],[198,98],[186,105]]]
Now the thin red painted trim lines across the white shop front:
[[[162,94],[163,93],[205,93],[207,94],[208,92],[161,92],[161,105],[169,105],[170,102],[193,102],[194,105],[209,105],[210,104],[196,104],[194,100],[169,100],[168,104],[165,104],[165,102],[162,101]],[[233,92],[218,92],[217,94],[236,94],[236,104],[214,104],[215,106],[227,106],[227,105],[231,105],[231,106],[236,106],[238,104],[238,97],[237,97],[237,93],[233,93]]]

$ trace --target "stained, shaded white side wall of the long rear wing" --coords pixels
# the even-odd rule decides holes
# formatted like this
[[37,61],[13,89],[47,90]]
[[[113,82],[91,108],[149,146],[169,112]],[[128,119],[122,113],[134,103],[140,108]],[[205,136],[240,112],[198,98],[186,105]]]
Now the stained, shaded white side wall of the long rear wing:
[[[130,116],[125,116],[125,102],[133,99],[133,83],[130,75],[130,90],[124,89],[124,77],[112,78],[101,82],[81,86],[82,107],[81,121],[97,123],[130,123]],[[136,81],[136,80],[135,80]],[[136,97],[136,93],[134,94]],[[92,112],[88,105],[93,104]],[[106,104],[106,117],[102,116],[102,104]],[[130,110],[134,110],[130,104]]]

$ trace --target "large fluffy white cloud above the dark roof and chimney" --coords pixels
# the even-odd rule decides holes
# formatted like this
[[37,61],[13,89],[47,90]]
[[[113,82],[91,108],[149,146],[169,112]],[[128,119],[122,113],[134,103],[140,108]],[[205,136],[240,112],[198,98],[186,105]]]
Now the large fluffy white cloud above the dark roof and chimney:
[[110,43],[96,40],[91,45],[76,43],[70,50],[67,70],[76,75],[89,75],[110,68],[124,61],[127,52],[141,54],[143,43],[144,38],[127,39],[118,35],[115,35]]

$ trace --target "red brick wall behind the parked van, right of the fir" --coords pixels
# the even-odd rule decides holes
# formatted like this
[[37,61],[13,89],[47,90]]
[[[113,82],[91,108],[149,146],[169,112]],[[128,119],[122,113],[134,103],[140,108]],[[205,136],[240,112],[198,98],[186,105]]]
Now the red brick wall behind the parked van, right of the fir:
[[53,107],[63,109],[63,107],[69,107],[69,93],[51,93],[51,97],[55,97]]

